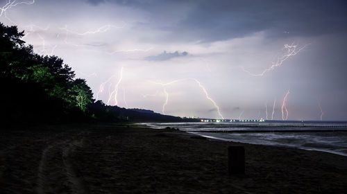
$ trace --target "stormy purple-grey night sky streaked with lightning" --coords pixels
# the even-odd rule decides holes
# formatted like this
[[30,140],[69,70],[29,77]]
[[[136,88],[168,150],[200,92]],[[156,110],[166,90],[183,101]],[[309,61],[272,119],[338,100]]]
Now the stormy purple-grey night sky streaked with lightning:
[[174,116],[347,121],[344,0],[0,0],[96,100]]

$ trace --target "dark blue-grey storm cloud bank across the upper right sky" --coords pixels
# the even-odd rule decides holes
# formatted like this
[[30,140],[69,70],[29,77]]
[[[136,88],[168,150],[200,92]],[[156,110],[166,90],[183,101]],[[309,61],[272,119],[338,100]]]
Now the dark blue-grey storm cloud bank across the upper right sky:
[[[112,1],[112,0],[107,0]],[[203,42],[244,37],[264,31],[268,37],[315,36],[347,31],[347,1],[325,0],[221,0],[221,1],[112,1],[151,13],[161,21],[169,10],[187,12],[178,24],[151,22],[144,28],[161,28],[183,41]],[[166,11],[165,11],[166,10]]]

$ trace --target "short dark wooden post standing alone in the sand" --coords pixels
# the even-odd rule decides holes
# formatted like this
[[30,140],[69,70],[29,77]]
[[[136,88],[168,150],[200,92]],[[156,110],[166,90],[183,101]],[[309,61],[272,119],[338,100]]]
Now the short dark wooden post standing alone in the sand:
[[228,147],[228,169],[229,175],[244,175],[244,146]]

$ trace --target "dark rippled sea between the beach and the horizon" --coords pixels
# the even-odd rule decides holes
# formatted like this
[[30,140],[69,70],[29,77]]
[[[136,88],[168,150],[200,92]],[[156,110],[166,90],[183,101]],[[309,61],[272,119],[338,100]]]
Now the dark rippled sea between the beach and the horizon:
[[347,156],[347,122],[270,121],[139,123],[145,127],[178,130],[221,141],[276,145]]

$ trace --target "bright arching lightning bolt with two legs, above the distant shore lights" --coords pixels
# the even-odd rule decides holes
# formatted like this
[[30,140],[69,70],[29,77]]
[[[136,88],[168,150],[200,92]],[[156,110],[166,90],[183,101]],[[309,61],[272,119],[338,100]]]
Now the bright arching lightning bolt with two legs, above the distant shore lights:
[[167,105],[168,103],[168,100],[169,100],[169,94],[167,93],[166,89],[165,89],[165,86],[167,85],[172,85],[176,82],[181,82],[181,81],[185,81],[185,80],[193,80],[194,82],[196,82],[198,84],[198,86],[203,90],[203,93],[205,94],[206,98],[208,100],[211,101],[211,103],[214,105],[214,107],[217,109],[217,113],[219,114],[219,116],[224,119],[223,115],[221,114],[221,110],[219,108],[219,106],[217,105],[217,103],[210,97],[210,95],[208,94],[208,91],[205,89],[205,87],[203,87],[203,85],[201,85],[201,82],[199,82],[198,80],[196,80],[195,78],[184,78],[184,79],[180,79],[180,80],[174,80],[174,81],[171,81],[171,82],[167,82],[167,83],[160,83],[160,82],[153,82],[154,84],[157,84],[157,85],[162,85],[163,87],[163,91],[164,91],[164,94],[166,96],[166,100],[165,100],[165,103],[164,105],[162,106],[162,113],[164,114],[164,109],[165,109],[165,106]]

